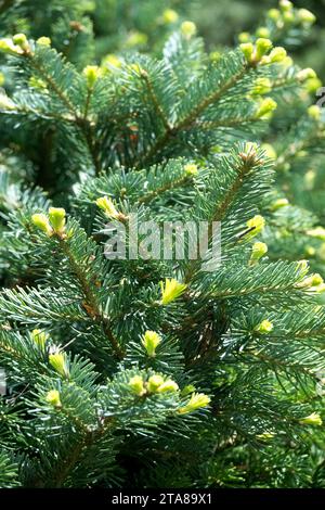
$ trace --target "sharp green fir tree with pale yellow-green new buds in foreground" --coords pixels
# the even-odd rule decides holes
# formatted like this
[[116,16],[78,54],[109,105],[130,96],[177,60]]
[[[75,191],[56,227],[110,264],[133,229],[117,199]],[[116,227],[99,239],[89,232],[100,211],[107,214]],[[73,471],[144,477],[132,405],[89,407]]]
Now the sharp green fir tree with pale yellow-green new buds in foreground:
[[[89,53],[49,35],[86,3],[0,40],[0,486],[324,486],[325,237],[295,176],[325,130],[277,46],[313,16],[282,1],[222,55],[181,18],[160,54],[84,62],[91,30]],[[221,222],[221,265],[110,259],[135,213]]]

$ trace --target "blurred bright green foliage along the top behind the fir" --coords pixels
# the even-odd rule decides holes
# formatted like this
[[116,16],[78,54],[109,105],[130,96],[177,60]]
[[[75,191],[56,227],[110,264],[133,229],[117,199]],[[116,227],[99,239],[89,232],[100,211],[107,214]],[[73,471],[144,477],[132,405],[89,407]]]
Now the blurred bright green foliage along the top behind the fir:
[[[317,16],[311,36],[295,49],[297,63],[313,67],[324,79],[325,0],[294,4]],[[243,30],[253,34],[265,12],[275,8],[276,0],[0,0],[0,25],[8,31],[1,36],[47,35],[69,60],[82,65],[91,58],[101,61],[130,49],[159,52],[168,34],[184,20],[195,22],[208,50],[218,51],[233,46]]]

